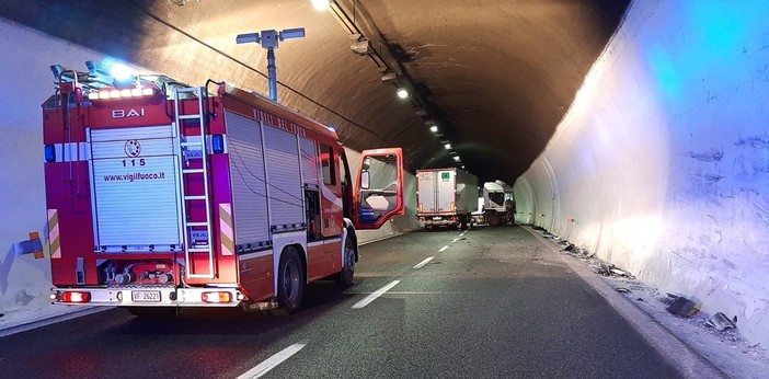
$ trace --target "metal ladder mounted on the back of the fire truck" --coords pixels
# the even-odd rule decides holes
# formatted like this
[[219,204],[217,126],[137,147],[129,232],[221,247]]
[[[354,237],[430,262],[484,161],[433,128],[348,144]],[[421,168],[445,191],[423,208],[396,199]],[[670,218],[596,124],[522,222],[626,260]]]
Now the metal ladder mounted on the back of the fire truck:
[[[187,94],[192,94],[197,99],[197,107],[194,114],[182,114],[182,101],[188,99]],[[208,149],[206,146],[206,122],[205,101],[208,97],[208,91],[204,87],[176,88],[174,91],[174,114],[176,122],[176,136],[180,139],[180,159],[179,170],[180,185],[182,196],[182,230],[185,254],[185,277],[187,278],[208,278],[215,276],[214,273],[214,245],[211,241],[211,202],[209,197],[209,177],[208,177]],[[195,123],[199,126],[199,135],[185,136],[185,123]],[[199,153],[197,153],[199,149]],[[190,168],[192,160],[200,160],[199,168]],[[188,180],[190,176],[198,175],[197,179],[203,179],[203,191],[198,194],[190,194]],[[194,204],[205,204],[205,221],[192,221],[191,209]],[[205,228],[205,244],[198,243],[195,233],[200,233]],[[207,253],[208,272],[200,273],[198,268],[193,267],[194,263],[199,263],[199,260],[193,261],[193,255]]]

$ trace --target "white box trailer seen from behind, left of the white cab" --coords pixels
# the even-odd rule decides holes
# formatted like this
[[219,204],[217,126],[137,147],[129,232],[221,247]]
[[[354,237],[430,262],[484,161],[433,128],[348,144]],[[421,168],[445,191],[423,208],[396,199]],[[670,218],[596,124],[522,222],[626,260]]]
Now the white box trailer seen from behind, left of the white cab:
[[416,217],[425,228],[448,226],[464,229],[478,209],[478,177],[467,171],[429,169],[416,171]]

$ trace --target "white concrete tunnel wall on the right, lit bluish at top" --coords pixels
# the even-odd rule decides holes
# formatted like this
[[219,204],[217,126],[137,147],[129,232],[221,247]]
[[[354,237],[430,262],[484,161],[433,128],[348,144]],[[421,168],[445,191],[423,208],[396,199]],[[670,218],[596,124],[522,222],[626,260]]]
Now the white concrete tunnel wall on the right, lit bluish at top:
[[634,1],[544,152],[518,221],[769,345],[766,1]]

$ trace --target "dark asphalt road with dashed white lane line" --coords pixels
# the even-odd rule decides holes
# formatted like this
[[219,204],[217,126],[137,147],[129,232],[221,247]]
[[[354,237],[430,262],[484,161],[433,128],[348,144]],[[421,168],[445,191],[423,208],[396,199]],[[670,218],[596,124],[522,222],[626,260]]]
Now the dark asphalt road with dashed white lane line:
[[113,309],[2,337],[0,377],[238,378],[265,367],[264,378],[680,377],[520,227],[414,232],[361,255],[355,286],[312,284],[289,317],[144,321]]

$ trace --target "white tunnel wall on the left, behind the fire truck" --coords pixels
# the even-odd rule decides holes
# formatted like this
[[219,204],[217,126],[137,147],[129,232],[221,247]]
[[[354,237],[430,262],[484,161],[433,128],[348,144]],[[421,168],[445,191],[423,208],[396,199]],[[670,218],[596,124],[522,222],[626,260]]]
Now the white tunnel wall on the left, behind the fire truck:
[[[34,312],[50,308],[50,264],[43,174],[43,117],[41,104],[54,93],[49,66],[84,70],[85,60],[100,60],[101,53],[53,38],[0,19],[0,49],[4,90],[0,93],[0,313]],[[169,72],[172,73],[172,72]],[[183,78],[180,78],[183,80]],[[346,149],[351,170],[357,172],[359,153]],[[353,174],[354,176],[354,174]],[[379,230],[359,231],[367,242],[417,228],[416,190],[413,174],[405,177],[406,215],[397,216]],[[43,239],[45,259],[19,254],[19,242],[30,232]],[[365,259],[365,256],[363,257]],[[54,307],[65,309],[65,307]],[[36,315],[30,314],[30,318]],[[3,318],[0,318],[2,324]]]

